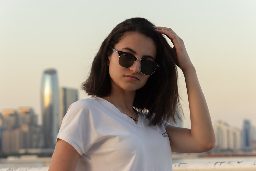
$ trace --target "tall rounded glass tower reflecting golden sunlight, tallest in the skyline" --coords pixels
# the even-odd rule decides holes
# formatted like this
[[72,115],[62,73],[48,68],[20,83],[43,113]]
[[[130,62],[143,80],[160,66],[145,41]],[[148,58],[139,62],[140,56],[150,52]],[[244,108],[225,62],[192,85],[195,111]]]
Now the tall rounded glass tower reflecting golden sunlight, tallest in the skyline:
[[41,88],[44,145],[54,148],[59,131],[59,88],[54,69],[44,71]]

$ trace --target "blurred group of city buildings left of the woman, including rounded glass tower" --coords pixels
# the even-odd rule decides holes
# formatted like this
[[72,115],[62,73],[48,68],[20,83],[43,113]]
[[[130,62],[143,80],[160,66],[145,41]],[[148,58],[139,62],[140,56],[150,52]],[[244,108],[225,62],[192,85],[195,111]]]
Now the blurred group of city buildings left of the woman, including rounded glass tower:
[[58,86],[56,70],[45,70],[40,91],[42,115],[36,115],[32,107],[1,111],[0,151],[6,154],[53,151],[62,119],[68,107],[78,100],[77,92]]

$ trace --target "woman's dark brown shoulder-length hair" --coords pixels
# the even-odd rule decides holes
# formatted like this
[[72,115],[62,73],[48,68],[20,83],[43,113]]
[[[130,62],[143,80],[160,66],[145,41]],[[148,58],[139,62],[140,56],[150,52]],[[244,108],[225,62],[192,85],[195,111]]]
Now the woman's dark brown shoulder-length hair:
[[[157,56],[155,62],[160,65],[151,75],[146,84],[136,91],[133,106],[138,111],[148,111],[152,125],[161,123],[162,120],[176,120],[180,118],[180,108],[177,67],[171,52],[171,47],[164,36],[158,33],[154,25],[145,18],[130,18],[116,25],[108,37],[102,42],[96,54],[89,77],[82,84],[81,89],[92,97],[108,96],[111,91],[108,56],[127,32],[140,33],[151,38],[155,45]],[[154,116],[155,115],[155,116]]]

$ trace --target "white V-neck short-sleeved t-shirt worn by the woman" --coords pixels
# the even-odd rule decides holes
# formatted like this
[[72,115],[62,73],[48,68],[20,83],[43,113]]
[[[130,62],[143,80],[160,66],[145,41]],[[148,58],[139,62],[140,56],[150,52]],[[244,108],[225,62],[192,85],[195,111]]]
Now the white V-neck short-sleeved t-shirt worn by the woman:
[[148,126],[139,113],[136,124],[102,98],[82,99],[70,105],[57,138],[81,155],[78,170],[172,170],[172,152],[163,122]]

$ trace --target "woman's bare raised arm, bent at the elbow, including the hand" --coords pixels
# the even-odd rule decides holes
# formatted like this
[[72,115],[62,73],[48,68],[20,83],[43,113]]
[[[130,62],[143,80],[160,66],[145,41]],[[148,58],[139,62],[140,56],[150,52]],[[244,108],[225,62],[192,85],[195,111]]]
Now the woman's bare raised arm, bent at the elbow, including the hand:
[[170,28],[155,27],[155,29],[172,41],[174,45],[172,52],[174,57],[177,57],[177,65],[183,71],[188,93],[191,129],[172,125],[166,127],[172,151],[181,153],[208,151],[215,145],[214,130],[196,70],[190,61],[184,42]]

